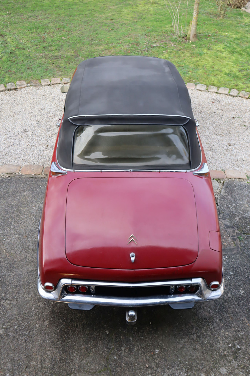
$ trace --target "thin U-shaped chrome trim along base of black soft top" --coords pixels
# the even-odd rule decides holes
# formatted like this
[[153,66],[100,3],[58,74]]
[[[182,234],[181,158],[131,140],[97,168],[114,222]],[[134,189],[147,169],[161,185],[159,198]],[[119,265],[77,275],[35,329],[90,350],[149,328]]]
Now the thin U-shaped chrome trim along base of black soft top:
[[[200,144],[200,141],[199,141],[197,130],[196,130],[196,136],[197,136],[199,148],[200,148],[200,151],[201,151],[201,144]],[[57,142],[57,148],[58,148],[58,142]],[[57,159],[57,152],[56,152],[56,159]],[[202,162],[202,151],[201,151],[201,162]],[[104,170],[73,170],[73,169],[62,167],[59,164],[58,159],[57,159],[58,167],[63,171],[70,171],[70,172],[193,172],[193,171],[198,170],[201,167],[201,162],[200,162],[198,167],[193,168],[192,170],[150,170],[150,169],[149,170],[145,170],[145,169],[139,170],[138,168],[136,168],[136,169],[130,169],[129,168],[129,169],[125,169],[125,170],[112,170],[112,169],[108,170],[106,168]]]

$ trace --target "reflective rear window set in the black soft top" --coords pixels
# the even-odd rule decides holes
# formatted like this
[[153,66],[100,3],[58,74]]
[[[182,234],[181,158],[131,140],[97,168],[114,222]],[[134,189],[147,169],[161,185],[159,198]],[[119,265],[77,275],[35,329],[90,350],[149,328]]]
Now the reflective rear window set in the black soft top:
[[76,165],[157,167],[189,162],[189,143],[182,126],[91,125],[79,126],[75,132]]

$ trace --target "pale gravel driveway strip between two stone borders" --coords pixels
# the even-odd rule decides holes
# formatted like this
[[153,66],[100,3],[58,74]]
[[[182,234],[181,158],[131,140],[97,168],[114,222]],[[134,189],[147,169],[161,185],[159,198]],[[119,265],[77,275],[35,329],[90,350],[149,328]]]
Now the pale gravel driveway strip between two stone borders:
[[[250,99],[190,90],[211,170],[250,170]],[[59,85],[0,93],[0,164],[49,165],[66,94]]]

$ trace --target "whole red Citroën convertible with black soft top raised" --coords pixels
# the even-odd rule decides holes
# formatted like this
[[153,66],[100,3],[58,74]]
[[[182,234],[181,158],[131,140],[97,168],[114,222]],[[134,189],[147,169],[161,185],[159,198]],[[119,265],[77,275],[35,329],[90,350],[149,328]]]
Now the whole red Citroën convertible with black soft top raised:
[[38,291],[70,308],[192,308],[222,296],[211,178],[186,85],[144,56],[78,65],[52,156]]

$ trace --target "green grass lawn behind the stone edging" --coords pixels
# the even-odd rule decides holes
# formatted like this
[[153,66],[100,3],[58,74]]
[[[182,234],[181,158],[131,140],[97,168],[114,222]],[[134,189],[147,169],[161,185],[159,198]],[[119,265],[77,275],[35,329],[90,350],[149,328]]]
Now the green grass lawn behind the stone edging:
[[[182,2],[185,29],[194,0],[187,17]],[[186,82],[250,90],[250,14],[229,8],[220,19],[213,0],[200,3],[195,43],[174,38],[163,0],[1,0],[0,25],[0,83],[71,77],[94,56],[147,55],[172,61]]]

